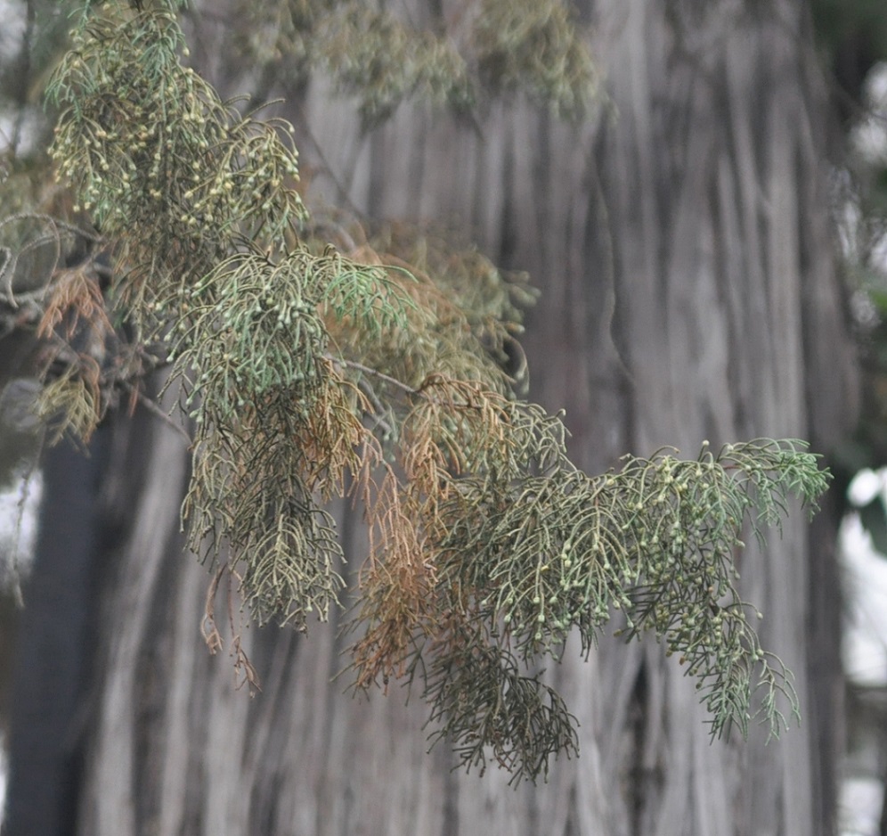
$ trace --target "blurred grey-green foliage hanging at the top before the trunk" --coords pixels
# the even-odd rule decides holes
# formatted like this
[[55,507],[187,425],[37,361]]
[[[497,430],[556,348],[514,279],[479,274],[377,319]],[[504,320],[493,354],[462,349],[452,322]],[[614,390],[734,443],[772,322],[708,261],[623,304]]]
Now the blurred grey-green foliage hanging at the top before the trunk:
[[571,120],[598,107],[588,41],[562,0],[480,0],[427,14],[427,27],[417,29],[367,0],[242,0],[249,23],[240,49],[281,68],[290,84],[325,70],[354,97],[368,129],[409,99],[465,111],[525,94]]

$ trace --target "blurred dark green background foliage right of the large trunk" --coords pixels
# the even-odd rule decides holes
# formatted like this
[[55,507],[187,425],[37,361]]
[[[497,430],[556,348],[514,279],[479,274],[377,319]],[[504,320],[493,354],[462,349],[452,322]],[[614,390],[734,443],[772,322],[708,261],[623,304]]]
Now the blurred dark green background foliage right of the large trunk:
[[[833,209],[865,375],[859,426],[837,462],[839,484],[846,484],[860,469],[887,463],[887,4],[811,5],[840,118],[832,151]],[[860,515],[879,551],[887,553],[880,500]]]

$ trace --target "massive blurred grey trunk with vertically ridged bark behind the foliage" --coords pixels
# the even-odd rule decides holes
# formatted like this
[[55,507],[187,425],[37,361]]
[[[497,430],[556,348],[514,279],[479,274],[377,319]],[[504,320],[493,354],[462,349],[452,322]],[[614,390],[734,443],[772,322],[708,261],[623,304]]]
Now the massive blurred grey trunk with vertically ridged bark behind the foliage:
[[[800,437],[827,451],[853,420],[856,372],[806,4],[586,11],[610,97],[595,124],[497,105],[478,133],[417,108],[362,137],[318,84],[303,113],[322,165],[373,215],[443,219],[531,272],[543,291],[526,340],[531,397],[566,407],[586,468],[663,444],[693,456],[704,439]],[[125,418],[115,432],[103,513],[120,537],[94,608],[84,836],[834,832],[827,516],[810,529],[793,512],[782,539],[741,563],[763,643],[797,677],[801,728],[766,749],[757,733],[712,743],[677,665],[656,646],[605,641],[551,671],[582,723],[582,757],[511,791],[496,770],[452,773],[447,750],[427,755],[419,701],[343,694],[330,681],[346,643],[336,623],[307,637],[248,631],[263,692],[236,691],[230,661],[201,646],[206,571],[179,548],[182,439]],[[359,554],[359,520],[345,516],[342,533]]]

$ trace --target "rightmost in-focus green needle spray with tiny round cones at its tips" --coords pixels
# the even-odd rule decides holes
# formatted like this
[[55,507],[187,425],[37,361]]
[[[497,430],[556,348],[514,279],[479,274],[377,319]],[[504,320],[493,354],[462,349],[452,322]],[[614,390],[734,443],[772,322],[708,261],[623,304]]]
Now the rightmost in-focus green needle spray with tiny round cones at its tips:
[[706,446],[695,462],[671,452],[626,457],[599,477],[561,459],[545,476],[513,474],[512,502],[497,506],[484,503],[491,492],[481,480],[463,480],[452,500],[460,525],[440,545],[439,577],[444,588],[476,590],[476,617],[491,635],[497,627],[509,635],[509,653],[527,663],[558,658],[574,628],[589,652],[622,610],[620,631],[655,635],[679,653],[712,713],[712,734],[731,723],[746,734],[758,690],[761,715],[782,722],[774,699],[783,691],[796,709],[791,679],[746,620],[734,555],[746,520],[759,531],[779,520],[789,492],[812,502],[825,490],[803,448],[760,440],[717,455]]

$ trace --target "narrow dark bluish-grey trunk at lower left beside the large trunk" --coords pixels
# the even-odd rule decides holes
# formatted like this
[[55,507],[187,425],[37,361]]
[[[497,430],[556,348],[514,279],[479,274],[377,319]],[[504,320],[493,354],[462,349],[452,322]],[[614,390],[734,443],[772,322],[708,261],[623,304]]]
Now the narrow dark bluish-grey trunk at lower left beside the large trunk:
[[12,775],[4,832],[75,832],[77,724],[94,646],[86,603],[93,598],[98,546],[95,497],[101,443],[85,457],[63,446],[43,468],[37,565],[24,595],[12,689]]

